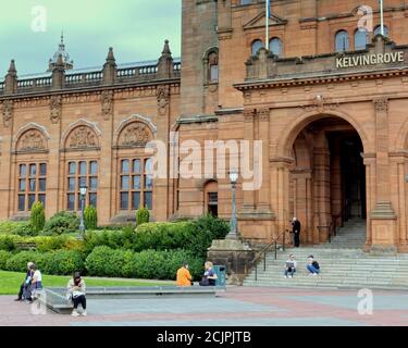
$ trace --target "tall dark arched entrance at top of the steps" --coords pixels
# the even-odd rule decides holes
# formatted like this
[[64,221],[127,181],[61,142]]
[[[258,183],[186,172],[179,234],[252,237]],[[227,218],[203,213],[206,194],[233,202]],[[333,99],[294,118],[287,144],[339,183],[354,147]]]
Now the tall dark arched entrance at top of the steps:
[[[295,135],[289,166],[289,215],[304,225],[302,243],[325,243],[345,223],[364,224],[366,167],[356,128],[337,116],[313,117]],[[362,233],[366,233],[362,225]]]

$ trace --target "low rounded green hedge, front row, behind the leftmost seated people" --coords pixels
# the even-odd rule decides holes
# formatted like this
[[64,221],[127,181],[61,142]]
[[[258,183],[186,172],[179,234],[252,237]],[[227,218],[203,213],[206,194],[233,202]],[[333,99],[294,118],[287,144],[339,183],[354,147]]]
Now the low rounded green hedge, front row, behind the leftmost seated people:
[[84,254],[76,250],[58,250],[51,252],[22,251],[11,256],[5,262],[5,271],[25,272],[27,262],[35,262],[45,274],[71,275],[84,272]]

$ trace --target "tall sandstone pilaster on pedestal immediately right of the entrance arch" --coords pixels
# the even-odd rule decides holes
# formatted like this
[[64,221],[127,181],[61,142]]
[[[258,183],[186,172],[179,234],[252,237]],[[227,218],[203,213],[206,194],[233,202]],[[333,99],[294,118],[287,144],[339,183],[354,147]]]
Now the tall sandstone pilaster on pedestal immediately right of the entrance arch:
[[390,158],[388,158],[388,100],[373,100],[375,112],[376,142],[376,199],[371,211],[372,248],[395,248],[396,214],[390,196]]

